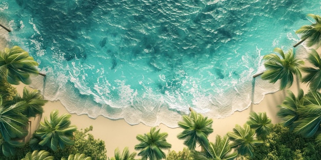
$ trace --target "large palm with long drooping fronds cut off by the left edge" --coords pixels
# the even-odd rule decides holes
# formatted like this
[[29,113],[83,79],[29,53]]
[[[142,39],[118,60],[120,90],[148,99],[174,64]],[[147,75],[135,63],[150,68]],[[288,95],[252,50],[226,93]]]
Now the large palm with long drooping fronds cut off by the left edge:
[[21,113],[23,110],[25,106],[21,102],[4,106],[0,96],[0,149],[5,156],[14,155],[16,147],[24,146],[19,141],[28,134],[28,118]]

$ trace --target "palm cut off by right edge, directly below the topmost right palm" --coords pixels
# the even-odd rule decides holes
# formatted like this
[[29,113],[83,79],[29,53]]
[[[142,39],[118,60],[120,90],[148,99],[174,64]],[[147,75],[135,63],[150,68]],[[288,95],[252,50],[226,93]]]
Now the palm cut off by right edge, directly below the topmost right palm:
[[303,77],[302,82],[308,83],[310,90],[318,91],[321,89],[321,58],[319,54],[312,49],[307,60],[313,67],[304,66],[301,68],[303,72],[307,73],[307,75]]

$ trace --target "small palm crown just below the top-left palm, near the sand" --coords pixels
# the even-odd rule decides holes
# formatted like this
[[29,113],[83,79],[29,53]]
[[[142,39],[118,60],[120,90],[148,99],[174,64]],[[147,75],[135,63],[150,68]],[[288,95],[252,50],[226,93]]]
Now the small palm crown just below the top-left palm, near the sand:
[[27,117],[41,115],[44,112],[43,106],[47,103],[39,90],[33,89],[30,92],[27,87],[24,87],[23,97],[19,98],[17,101],[22,101],[24,102],[24,105],[26,105],[27,109],[23,114]]

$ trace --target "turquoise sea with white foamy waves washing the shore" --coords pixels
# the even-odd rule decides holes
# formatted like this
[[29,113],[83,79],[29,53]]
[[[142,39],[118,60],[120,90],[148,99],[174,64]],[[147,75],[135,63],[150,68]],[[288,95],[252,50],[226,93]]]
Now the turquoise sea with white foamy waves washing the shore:
[[192,107],[225,118],[277,85],[252,76],[288,50],[319,1],[2,0],[10,46],[47,76],[32,87],[71,113],[176,127]]

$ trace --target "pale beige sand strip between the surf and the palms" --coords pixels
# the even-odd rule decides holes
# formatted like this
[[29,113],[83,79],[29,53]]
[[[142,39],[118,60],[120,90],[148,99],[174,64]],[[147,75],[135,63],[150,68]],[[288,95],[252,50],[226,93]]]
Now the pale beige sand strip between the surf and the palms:
[[[26,85],[18,85],[17,90],[22,94],[22,89]],[[297,93],[296,82],[293,83],[291,90],[293,93]],[[303,87],[306,93],[306,85]],[[32,88],[29,88],[32,89]],[[273,94],[268,94],[265,96],[264,100],[259,104],[253,104],[248,109],[241,112],[235,112],[232,116],[225,119],[213,119],[213,129],[214,132],[210,134],[209,140],[214,142],[216,134],[225,135],[227,132],[232,131],[235,124],[243,125],[246,123],[249,117],[250,111],[255,112],[267,112],[267,116],[272,119],[272,123],[280,122],[280,119],[276,117],[276,112],[278,111],[277,105],[281,104],[285,98],[285,91],[281,90]],[[63,113],[68,113],[66,108],[59,102],[48,102],[44,106],[45,112],[43,118],[49,118],[50,112],[53,109],[58,109],[60,115]],[[43,121],[42,118],[42,121]],[[93,126],[93,131],[90,133],[94,135],[96,139],[104,140],[106,143],[107,155],[109,157],[114,155],[114,149],[119,147],[123,150],[125,147],[129,147],[130,151],[134,151],[134,146],[138,144],[136,140],[137,134],[144,134],[150,130],[151,127],[145,126],[144,124],[131,126],[124,120],[110,120],[99,116],[97,119],[91,119],[87,115],[77,116],[72,114],[71,122],[76,125],[78,129]],[[160,131],[167,132],[167,141],[172,144],[171,150],[181,151],[185,147],[183,145],[183,140],[178,140],[176,138],[177,134],[182,131],[180,128],[169,128],[165,125],[159,125]],[[32,127],[34,130],[35,127]],[[167,151],[165,151],[167,153]]]

